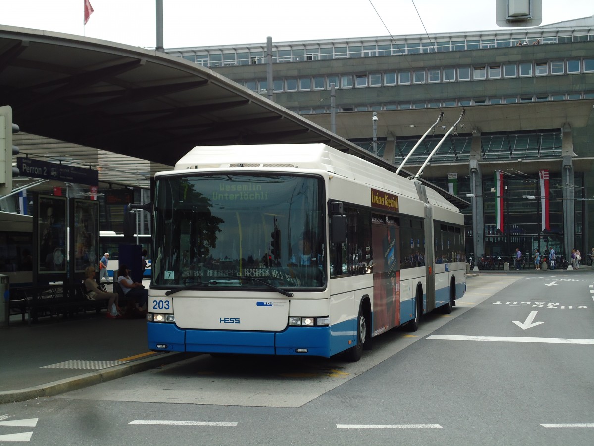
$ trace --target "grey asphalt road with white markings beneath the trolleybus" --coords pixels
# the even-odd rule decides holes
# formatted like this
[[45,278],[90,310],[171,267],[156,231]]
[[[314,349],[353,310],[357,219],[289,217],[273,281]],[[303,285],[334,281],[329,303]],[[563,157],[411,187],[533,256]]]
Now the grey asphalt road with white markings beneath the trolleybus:
[[4,405],[0,445],[594,444],[592,271],[467,285],[358,363],[199,356]]

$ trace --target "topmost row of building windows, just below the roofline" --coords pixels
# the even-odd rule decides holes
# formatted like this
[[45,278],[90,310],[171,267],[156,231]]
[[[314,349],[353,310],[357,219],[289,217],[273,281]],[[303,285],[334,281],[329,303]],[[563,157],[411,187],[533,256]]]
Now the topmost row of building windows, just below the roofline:
[[[517,45],[533,45],[533,44],[550,44],[550,43],[567,43],[567,42],[587,42],[594,40],[594,33],[576,34],[570,36],[551,36],[542,37],[544,32],[530,33],[530,37],[526,33],[521,36],[517,33],[515,36],[509,34],[505,37],[491,36],[491,37],[477,37],[476,39],[442,39],[440,40],[426,39],[425,41],[407,42],[402,40],[394,43],[376,43],[365,42],[343,43],[338,45],[320,45],[318,43],[307,42],[301,45],[287,45],[285,48],[273,49],[272,59],[273,63],[283,62],[302,62],[302,61],[318,61],[331,59],[347,59],[347,58],[361,58],[361,57],[377,57],[390,56],[400,54],[419,54],[429,52],[447,52],[447,51],[464,51],[468,49],[481,48],[506,48]],[[302,48],[295,48],[301,46]],[[249,49],[245,51],[236,51],[235,49],[194,49],[194,50],[170,50],[173,55],[179,55],[182,58],[203,65],[204,67],[224,67],[230,65],[250,65],[250,64],[266,64],[266,51],[263,48]]]

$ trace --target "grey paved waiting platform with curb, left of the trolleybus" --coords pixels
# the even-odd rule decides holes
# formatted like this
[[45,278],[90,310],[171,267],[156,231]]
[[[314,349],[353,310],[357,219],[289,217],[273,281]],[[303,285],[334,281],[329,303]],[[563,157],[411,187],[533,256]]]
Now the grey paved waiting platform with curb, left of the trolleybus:
[[144,319],[88,312],[27,325],[12,316],[0,328],[0,403],[49,397],[185,357],[149,351]]

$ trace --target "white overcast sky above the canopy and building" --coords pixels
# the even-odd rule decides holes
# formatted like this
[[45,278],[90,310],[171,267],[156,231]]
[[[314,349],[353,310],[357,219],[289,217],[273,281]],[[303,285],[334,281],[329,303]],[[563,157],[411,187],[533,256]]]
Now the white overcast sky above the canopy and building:
[[[154,0],[90,2],[83,26],[84,0],[0,0],[0,24],[154,48]],[[592,0],[542,0],[542,24],[593,14]],[[165,48],[498,29],[495,0],[163,0],[163,18]]]

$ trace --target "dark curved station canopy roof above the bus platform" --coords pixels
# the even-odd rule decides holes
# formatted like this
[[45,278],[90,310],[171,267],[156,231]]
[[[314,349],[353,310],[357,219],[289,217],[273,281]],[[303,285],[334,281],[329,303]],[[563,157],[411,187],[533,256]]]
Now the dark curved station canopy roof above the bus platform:
[[396,170],[200,65],[70,34],[0,26],[0,105],[21,156],[96,169],[104,185],[149,187],[199,145],[326,143]]

